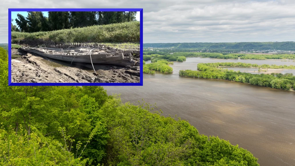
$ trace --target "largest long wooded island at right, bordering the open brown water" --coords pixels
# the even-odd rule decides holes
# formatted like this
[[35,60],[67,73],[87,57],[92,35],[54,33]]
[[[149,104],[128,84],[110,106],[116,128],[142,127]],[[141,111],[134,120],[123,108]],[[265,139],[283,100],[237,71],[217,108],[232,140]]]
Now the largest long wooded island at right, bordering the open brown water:
[[252,85],[258,85],[263,87],[272,87],[276,89],[286,89],[295,88],[295,76],[293,74],[250,74],[242,73],[240,71],[232,71],[227,69],[216,68],[212,64],[198,64],[198,69],[200,71],[192,70],[180,70],[180,76],[188,77],[200,77],[200,78],[210,78],[210,79],[224,79],[231,80],[242,83],[249,83]]

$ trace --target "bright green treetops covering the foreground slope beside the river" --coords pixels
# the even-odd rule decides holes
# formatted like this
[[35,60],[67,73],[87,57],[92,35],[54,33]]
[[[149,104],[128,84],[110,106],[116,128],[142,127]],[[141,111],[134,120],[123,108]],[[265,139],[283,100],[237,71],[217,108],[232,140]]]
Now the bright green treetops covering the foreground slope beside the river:
[[238,145],[103,87],[8,86],[7,78],[0,48],[0,165],[259,165]]

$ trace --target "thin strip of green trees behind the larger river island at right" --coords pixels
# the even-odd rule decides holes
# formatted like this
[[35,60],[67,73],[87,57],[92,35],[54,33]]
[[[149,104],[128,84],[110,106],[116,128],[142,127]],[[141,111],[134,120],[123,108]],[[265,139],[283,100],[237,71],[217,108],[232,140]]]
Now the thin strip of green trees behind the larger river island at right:
[[206,63],[207,66],[211,67],[255,67],[255,68],[261,68],[261,69],[295,69],[294,65],[257,65],[257,64],[247,64],[247,63],[241,63],[241,62],[217,62],[217,63]]

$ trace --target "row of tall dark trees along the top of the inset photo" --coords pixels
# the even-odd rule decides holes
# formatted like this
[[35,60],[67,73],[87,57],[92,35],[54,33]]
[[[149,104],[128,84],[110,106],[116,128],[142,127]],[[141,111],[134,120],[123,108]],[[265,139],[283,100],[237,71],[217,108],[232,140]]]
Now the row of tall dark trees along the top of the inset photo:
[[12,25],[11,31],[45,32],[107,25],[135,21],[135,15],[136,12],[48,12],[45,17],[42,12],[28,12],[27,17],[17,14],[17,26]]

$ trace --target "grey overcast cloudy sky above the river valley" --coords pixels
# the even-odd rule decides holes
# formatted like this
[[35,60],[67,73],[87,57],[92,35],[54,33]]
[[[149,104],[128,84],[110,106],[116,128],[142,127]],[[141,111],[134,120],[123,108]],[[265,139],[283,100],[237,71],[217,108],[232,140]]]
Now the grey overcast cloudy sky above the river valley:
[[143,8],[144,43],[295,41],[294,0],[2,0],[0,43],[8,8]]

